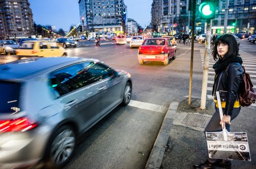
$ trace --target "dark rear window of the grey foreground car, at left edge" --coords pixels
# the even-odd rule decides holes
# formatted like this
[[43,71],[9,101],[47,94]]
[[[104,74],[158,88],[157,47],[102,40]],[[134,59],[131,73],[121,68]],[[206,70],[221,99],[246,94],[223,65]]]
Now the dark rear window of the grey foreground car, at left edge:
[[20,111],[20,83],[0,81],[0,114]]

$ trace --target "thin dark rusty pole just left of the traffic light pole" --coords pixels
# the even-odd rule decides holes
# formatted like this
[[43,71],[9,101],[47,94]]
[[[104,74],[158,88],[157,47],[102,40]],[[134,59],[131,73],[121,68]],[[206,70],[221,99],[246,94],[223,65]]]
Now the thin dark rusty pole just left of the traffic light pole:
[[192,76],[193,76],[193,58],[194,58],[194,36],[195,36],[195,20],[196,20],[196,3],[193,3],[193,17],[192,17],[192,44],[191,44],[191,60],[190,60],[190,75],[189,75],[189,92],[188,105],[191,104],[192,94]]

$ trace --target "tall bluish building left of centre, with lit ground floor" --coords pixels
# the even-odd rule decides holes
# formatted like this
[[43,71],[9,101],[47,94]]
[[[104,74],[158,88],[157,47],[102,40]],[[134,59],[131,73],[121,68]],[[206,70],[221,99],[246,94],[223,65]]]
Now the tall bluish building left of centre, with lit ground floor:
[[109,33],[126,32],[127,8],[123,0],[79,0],[78,4],[80,18],[84,17],[85,30],[89,33],[105,37]]

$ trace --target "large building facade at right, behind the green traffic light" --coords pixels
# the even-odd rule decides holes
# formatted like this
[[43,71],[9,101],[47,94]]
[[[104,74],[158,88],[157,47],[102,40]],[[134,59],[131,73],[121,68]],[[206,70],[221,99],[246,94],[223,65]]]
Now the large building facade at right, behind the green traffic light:
[[[229,1],[227,33],[254,33],[256,31],[256,1],[227,1]],[[227,1],[217,1],[215,18],[212,20],[212,33],[223,33]],[[196,34],[205,33],[205,21],[200,19],[198,10],[200,4],[201,0],[197,0],[195,21]],[[153,0],[151,23],[155,31],[169,35],[189,33],[192,27],[192,12],[188,11],[188,7],[189,0]]]

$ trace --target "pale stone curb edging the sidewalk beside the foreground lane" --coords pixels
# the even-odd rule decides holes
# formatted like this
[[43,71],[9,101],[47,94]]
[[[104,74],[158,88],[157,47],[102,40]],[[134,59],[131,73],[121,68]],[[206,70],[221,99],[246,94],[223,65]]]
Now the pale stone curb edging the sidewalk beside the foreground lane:
[[177,101],[171,102],[164,117],[161,129],[157,135],[153,149],[150,152],[148,162],[145,166],[146,169],[161,168],[167,141],[169,140],[169,134],[173,126],[174,115],[176,114],[179,103],[186,98],[186,96],[183,96],[177,99]]

